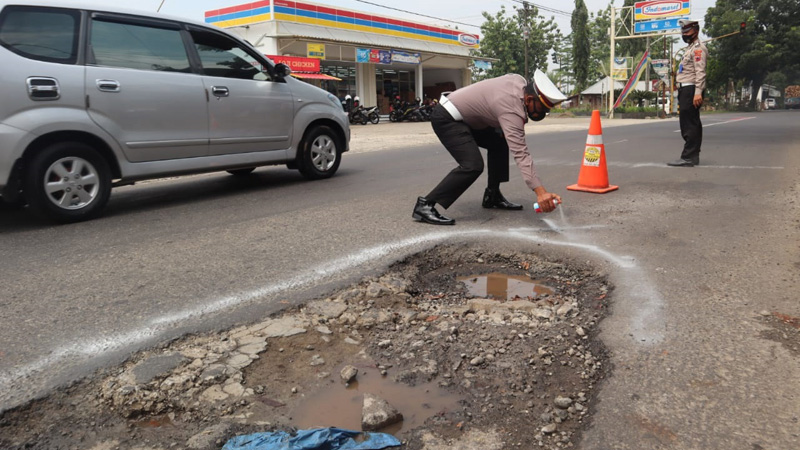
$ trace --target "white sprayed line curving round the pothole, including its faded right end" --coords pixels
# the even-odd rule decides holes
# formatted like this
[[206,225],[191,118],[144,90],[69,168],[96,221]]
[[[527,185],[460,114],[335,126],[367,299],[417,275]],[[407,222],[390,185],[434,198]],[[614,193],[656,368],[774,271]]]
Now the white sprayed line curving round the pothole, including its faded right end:
[[[434,244],[442,241],[452,241],[457,238],[473,238],[486,236],[488,234],[491,234],[492,237],[512,240],[575,247],[590,253],[595,253],[620,269],[629,271],[629,276],[625,278],[630,278],[630,282],[624,283],[621,287],[617,288],[617,293],[623,298],[628,297],[624,300],[626,302],[630,301],[629,299],[637,299],[637,304],[640,305],[637,312],[638,316],[634,317],[634,323],[631,324],[631,331],[635,333],[637,338],[641,338],[640,340],[642,341],[651,343],[660,342],[663,336],[660,331],[655,328],[657,328],[658,324],[663,324],[664,322],[660,317],[660,309],[663,305],[663,300],[655,287],[650,285],[642,271],[638,268],[635,259],[628,256],[615,255],[593,244],[573,242],[576,240],[572,235],[573,231],[593,229],[600,226],[558,227],[550,220],[545,223],[549,224],[549,228],[515,228],[506,231],[472,229],[428,233],[365,248],[344,257],[325,262],[317,267],[310,268],[304,273],[280,283],[267,284],[251,291],[209,299],[204,305],[176,311],[168,315],[162,315],[148,321],[137,329],[124,333],[99,336],[95,339],[83,340],[81,342],[69,343],[54,349],[47,356],[32,363],[18,367],[15,370],[0,373],[0,392],[11,392],[14,383],[63,363],[68,358],[102,357],[105,353],[118,351],[136,344],[142,344],[148,339],[157,337],[162,332],[178,326],[188,319],[196,319],[207,314],[224,311],[250,301],[264,298],[265,296],[309,287],[319,283],[321,278],[335,275],[343,270],[353,269],[370,262],[375,262],[395,252],[408,250],[422,244]],[[559,234],[570,233],[570,236],[572,236],[571,241],[567,242],[551,239],[546,235],[546,232],[551,232],[552,230],[555,230]],[[545,233],[543,234],[542,232]]]

